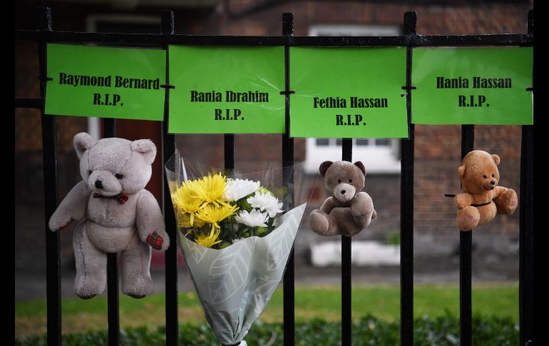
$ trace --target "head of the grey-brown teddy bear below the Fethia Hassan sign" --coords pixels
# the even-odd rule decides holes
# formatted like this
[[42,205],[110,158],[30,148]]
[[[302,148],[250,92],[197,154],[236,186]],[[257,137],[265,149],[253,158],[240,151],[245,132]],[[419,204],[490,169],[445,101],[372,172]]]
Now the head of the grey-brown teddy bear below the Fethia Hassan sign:
[[366,168],[360,161],[324,161],[319,171],[332,196],[341,202],[352,200],[364,188]]

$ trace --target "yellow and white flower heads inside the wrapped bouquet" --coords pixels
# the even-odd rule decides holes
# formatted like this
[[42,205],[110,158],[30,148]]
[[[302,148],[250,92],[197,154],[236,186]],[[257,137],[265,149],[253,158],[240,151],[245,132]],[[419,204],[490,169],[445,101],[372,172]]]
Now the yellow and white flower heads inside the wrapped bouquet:
[[188,180],[171,193],[178,228],[205,248],[222,249],[252,235],[275,229],[282,203],[259,181],[227,178],[221,173]]

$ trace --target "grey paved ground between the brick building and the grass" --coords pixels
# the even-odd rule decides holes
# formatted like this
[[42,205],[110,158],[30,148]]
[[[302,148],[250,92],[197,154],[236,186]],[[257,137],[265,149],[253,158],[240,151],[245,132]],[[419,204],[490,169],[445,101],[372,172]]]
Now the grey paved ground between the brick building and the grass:
[[[15,254],[15,299],[31,300],[46,297],[45,244],[43,236],[43,215],[28,208],[16,208]],[[29,217],[31,215],[32,217]],[[297,285],[339,285],[340,268],[314,268],[309,265],[310,244],[322,239],[308,230],[300,230],[296,240]],[[61,294],[76,297],[73,292],[74,260],[72,253],[72,232],[61,235]],[[459,234],[424,235],[414,232],[414,280],[416,283],[458,283]],[[163,259],[153,270],[155,292],[164,291],[165,275]],[[160,263],[160,264],[158,264]],[[185,265],[178,269],[178,290],[194,290]],[[355,285],[399,284],[398,266],[363,267],[352,269]],[[518,281],[518,240],[505,234],[477,232],[473,237],[473,283],[486,281]]]

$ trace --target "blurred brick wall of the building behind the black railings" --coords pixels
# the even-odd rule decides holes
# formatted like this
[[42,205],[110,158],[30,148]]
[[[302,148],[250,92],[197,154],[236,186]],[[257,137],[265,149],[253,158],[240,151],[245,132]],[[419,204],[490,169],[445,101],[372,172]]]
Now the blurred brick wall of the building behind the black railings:
[[[384,4],[364,1],[292,1],[267,7],[252,14],[233,17],[228,12],[247,9],[257,1],[229,1],[224,11],[175,10],[175,29],[178,34],[225,34],[225,35],[279,35],[282,31],[282,12],[294,13],[294,34],[306,36],[313,24],[376,24],[401,26],[405,11],[417,11],[418,34],[500,34],[524,33],[526,18],[532,3],[509,4],[506,2],[477,4],[462,1],[463,4]],[[83,31],[86,16],[94,13],[128,13],[108,6],[86,4],[79,6],[63,3],[49,5],[53,11],[53,28],[60,31]],[[16,28],[36,29],[34,4],[21,1],[16,4]],[[159,14],[160,8],[138,8],[135,14]],[[36,44],[16,42],[15,94],[16,97],[31,98],[39,95],[38,60]],[[39,112],[27,109],[15,111],[15,153],[16,153],[16,200],[21,200],[20,213],[16,213],[16,248],[26,248],[29,240],[36,246],[30,251],[43,250],[41,234],[43,220],[41,189],[41,130]],[[58,117],[58,153],[60,163],[60,196],[66,194],[78,180],[72,137],[86,131],[86,119]],[[183,155],[190,156],[210,166],[222,166],[223,138],[219,135],[178,136],[178,148]],[[415,228],[416,233],[429,235],[452,235],[456,210],[451,198],[444,193],[456,193],[459,188],[456,168],[460,163],[460,126],[416,126],[415,163]],[[518,190],[520,178],[520,127],[518,126],[476,126],[476,148],[497,153],[502,163],[501,184]],[[253,135],[237,136],[235,141],[237,165],[249,166],[257,158],[280,161],[281,136]],[[295,157],[304,160],[304,141],[295,141]],[[338,158],[327,158],[337,160]],[[358,159],[358,158],[356,158]],[[158,172],[162,174],[162,172]],[[19,178],[17,178],[19,177]],[[309,177],[307,189],[312,188]],[[387,230],[399,229],[399,175],[369,175],[366,190],[374,198],[379,220],[361,238],[383,238]],[[321,182],[322,185],[322,182]],[[324,193],[325,191],[322,191]],[[318,205],[324,195],[316,200]],[[31,198],[31,200],[29,200]],[[520,198],[520,196],[519,196]],[[30,207],[29,207],[30,205]],[[33,211],[34,210],[34,211]],[[36,213],[39,210],[39,213]],[[36,218],[25,218],[33,214]],[[30,224],[30,220],[34,223]],[[20,221],[18,221],[20,220]],[[25,230],[28,232],[25,233]],[[503,233],[516,237],[518,233],[518,212],[512,216],[498,217],[483,227],[483,233]],[[455,238],[455,237],[454,237]],[[311,240],[301,238],[304,242]],[[62,236],[63,253],[71,257],[71,235]],[[301,240],[299,240],[301,241]],[[314,240],[316,241],[316,240]],[[17,253],[17,252],[16,252]],[[21,251],[23,254],[23,251]],[[29,256],[16,255],[23,261]],[[32,260],[32,259],[30,259]],[[39,260],[40,261],[40,260]],[[43,262],[43,261],[42,261]],[[34,262],[41,263],[41,262]]]

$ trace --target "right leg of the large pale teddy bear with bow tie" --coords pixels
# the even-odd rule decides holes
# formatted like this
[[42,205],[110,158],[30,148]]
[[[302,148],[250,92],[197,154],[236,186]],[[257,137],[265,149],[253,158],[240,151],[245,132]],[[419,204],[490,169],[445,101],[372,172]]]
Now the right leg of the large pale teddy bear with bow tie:
[[122,292],[134,298],[153,293],[150,278],[150,246],[141,242],[137,233],[122,252]]

